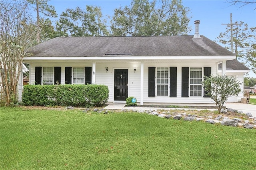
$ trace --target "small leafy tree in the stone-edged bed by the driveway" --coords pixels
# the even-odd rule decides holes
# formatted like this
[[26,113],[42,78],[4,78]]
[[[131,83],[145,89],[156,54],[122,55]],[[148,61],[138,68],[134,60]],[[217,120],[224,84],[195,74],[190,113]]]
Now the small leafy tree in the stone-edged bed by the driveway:
[[202,83],[204,91],[215,102],[219,113],[228,97],[238,96],[241,92],[240,85],[242,85],[235,77],[226,75],[205,76]]

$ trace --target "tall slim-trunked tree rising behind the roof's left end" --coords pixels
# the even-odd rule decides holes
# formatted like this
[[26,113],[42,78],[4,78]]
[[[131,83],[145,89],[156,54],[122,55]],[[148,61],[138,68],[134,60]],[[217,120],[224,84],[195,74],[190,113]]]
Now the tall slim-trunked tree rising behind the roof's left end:
[[34,9],[36,11],[36,23],[37,23],[37,35],[36,35],[36,41],[37,43],[40,43],[42,41],[44,41],[42,39],[42,37],[40,36],[41,34],[41,30],[43,29],[43,27],[45,26],[44,23],[42,23],[42,21],[44,21],[44,19],[42,19],[40,17],[40,13],[43,14],[44,16],[47,17],[57,17],[57,13],[55,10],[55,7],[52,5],[49,5],[48,2],[50,0],[27,0],[30,4],[35,5]]

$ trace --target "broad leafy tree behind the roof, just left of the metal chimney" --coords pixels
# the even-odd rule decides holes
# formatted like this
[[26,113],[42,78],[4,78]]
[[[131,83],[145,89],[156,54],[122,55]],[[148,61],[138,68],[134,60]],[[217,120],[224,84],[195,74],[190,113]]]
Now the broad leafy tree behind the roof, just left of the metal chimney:
[[132,0],[130,7],[114,10],[111,20],[113,36],[186,35],[189,8],[182,0]]

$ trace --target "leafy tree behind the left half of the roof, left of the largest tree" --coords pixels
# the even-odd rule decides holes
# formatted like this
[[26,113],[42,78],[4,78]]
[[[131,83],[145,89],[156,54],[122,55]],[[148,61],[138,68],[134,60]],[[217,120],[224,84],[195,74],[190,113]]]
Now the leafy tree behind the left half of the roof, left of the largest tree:
[[58,36],[108,36],[106,19],[101,8],[86,5],[86,10],[80,7],[67,8],[56,23]]

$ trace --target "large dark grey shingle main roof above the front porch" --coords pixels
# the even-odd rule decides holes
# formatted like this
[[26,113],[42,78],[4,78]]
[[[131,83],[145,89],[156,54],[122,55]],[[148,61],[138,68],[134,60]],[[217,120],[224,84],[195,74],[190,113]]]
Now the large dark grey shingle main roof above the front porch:
[[204,36],[62,37],[36,45],[32,51],[38,57],[234,55]]

